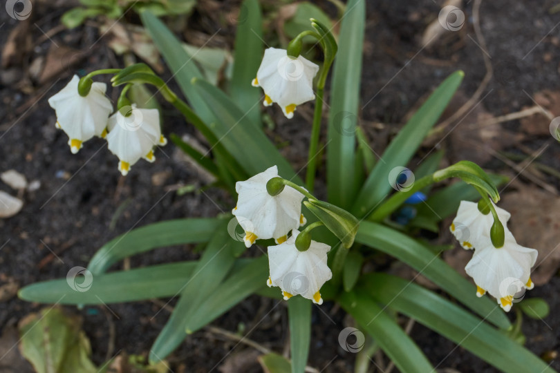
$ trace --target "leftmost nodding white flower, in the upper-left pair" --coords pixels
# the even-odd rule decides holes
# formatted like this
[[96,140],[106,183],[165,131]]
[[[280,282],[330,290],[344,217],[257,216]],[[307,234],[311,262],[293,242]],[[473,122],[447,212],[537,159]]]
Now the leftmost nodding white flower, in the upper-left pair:
[[48,104],[55,109],[57,128],[68,135],[68,145],[73,154],[82,149],[82,143],[93,136],[105,137],[109,114],[113,105],[105,91],[106,84],[94,82],[89,93],[82,97],[78,93],[80,78],[74,75],[59,93],[48,99]]

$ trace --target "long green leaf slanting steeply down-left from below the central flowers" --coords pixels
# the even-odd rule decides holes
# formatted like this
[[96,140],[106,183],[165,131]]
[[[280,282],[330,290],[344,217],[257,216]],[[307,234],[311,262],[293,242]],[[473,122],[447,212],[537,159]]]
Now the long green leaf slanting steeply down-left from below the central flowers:
[[149,356],[151,362],[157,363],[166,358],[185,339],[187,321],[232,269],[239,247],[245,248],[242,242],[229,236],[223,223],[212,234],[192,277],[180,291],[171,317],[153,343]]

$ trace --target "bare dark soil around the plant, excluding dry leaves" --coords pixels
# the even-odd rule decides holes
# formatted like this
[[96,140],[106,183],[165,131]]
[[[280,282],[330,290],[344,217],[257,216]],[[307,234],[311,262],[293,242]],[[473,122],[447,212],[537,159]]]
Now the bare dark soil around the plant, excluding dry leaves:
[[[270,5],[274,1],[267,3]],[[483,3],[480,24],[487,52],[492,57],[495,77],[483,93],[485,98],[481,105],[492,115],[532,106],[530,95],[543,89],[558,89],[560,52],[557,42],[560,28],[556,26],[560,15],[548,13],[556,4],[552,0]],[[223,12],[236,6],[239,5],[227,1]],[[333,12],[330,4],[321,2],[321,6]],[[63,30],[54,35],[52,41],[43,37],[41,42],[36,42],[41,40],[41,30],[48,32],[59,25],[59,17],[69,8],[71,6],[67,4],[55,8],[50,3],[34,3],[32,17],[27,20],[27,37],[32,48],[23,53],[20,61],[10,66],[11,70],[1,72],[0,171],[15,169],[26,175],[29,181],[40,182],[37,191],[24,195],[24,209],[17,216],[0,220],[1,283],[12,279],[24,286],[39,280],[64,278],[68,269],[85,266],[104,242],[133,227],[173,218],[216,216],[230,210],[234,204],[227,193],[218,189],[181,196],[166,189],[176,184],[195,184],[197,187],[204,184],[173,144],[156,153],[158,159],[155,163],[140,161],[126,178],[118,173],[117,158],[104,149],[102,140],[86,142],[80,153],[71,155],[66,135],[55,129],[55,113],[48,106],[48,97],[60,90],[72,74],[83,74],[97,68],[122,67],[122,60],[106,46],[105,39],[93,25]],[[465,81],[460,88],[465,97],[470,97],[483,79],[483,52],[470,38],[476,40],[471,17],[472,2],[469,1],[463,9],[467,23],[460,32],[447,35],[437,46],[416,55],[420,50],[418,40],[427,23],[437,19],[440,5],[428,0],[407,4],[389,0],[368,1],[362,72],[362,106],[365,106],[361,120],[377,153],[382,153],[387,140],[398,131],[398,124],[404,122],[407,112],[449,73],[459,69],[465,71]],[[192,17],[194,20],[189,24],[194,26],[190,27],[196,27],[197,32],[207,35],[214,34],[217,26],[212,22],[215,17],[205,15],[202,9]],[[127,18],[137,21],[133,16]],[[18,23],[0,9],[1,46]],[[226,46],[232,46],[232,27],[223,28],[218,35]],[[32,61],[46,55],[51,43],[86,51],[86,57],[78,64],[67,66],[48,82],[32,82],[28,68]],[[90,48],[92,44],[95,46]],[[519,73],[509,77],[505,69]],[[171,75],[166,72],[164,76]],[[178,91],[173,83],[171,87]],[[109,93],[113,102],[117,95],[115,90]],[[185,124],[178,113],[162,105],[165,133],[194,133],[192,126]],[[292,143],[290,153],[286,155],[295,164],[295,169],[299,169],[306,162],[310,127],[302,115],[287,121],[277,108],[267,111],[278,124],[270,136],[278,143]],[[301,111],[311,113],[311,106],[301,108]],[[506,122],[501,126],[508,131],[519,132],[519,122]],[[535,151],[550,140],[550,135],[523,135],[521,144]],[[449,144],[443,142],[442,146]],[[429,149],[422,152],[425,154]],[[539,157],[539,162],[560,169],[559,149],[558,144],[552,144]],[[448,150],[453,153],[454,149]],[[504,150],[521,153],[512,145]],[[508,166],[496,160],[485,166],[495,172],[512,173]],[[319,169],[321,177],[324,177],[324,171],[324,168]],[[154,180],[154,175],[157,175],[157,180]],[[557,189],[560,187],[558,179],[545,177],[549,184]],[[529,182],[523,175],[520,180]],[[5,184],[0,184],[0,188],[15,194]],[[115,216],[120,207],[122,213]],[[113,227],[110,227],[111,220],[115,221]],[[131,258],[130,265],[140,267],[189,260],[197,257],[192,249],[190,246],[157,249]],[[50,260],[40,265],[45,258]],[[118,268],[122,265],[115,266],[115,269]],[[558,276],[530,292],[530,296],[545,298],[552,309],[544,321],[527,319],[523,323],[526,345],[539,356],[560,348],[557,332],[560,327],[557,312],[560,309],[559,292]],[[277,303],[277,300],[251,296],[214,325],[232,332],[244,328],[245,332],[250,332],[249,338],[281,353],[288,341],[288,327],[286,307]],[[174,305],[174,300],[169,304]],[[0,330],[17,324],[23,316],[40,307],[17,298],[2,303]],[[151,302],[110,307],[110,310],[104,307],[74,309],[84,318],[84,330],[91,339],[95,363],[102,364],[107,354],[109,357],[120,352],[146,355],[165,325],[169,312],[164,310],[152,318],[161,305]],[[109,329],[112,326],[115,327],[115,347],[109,350]],[[338,334],[345,326],[344,312],[332,303],[313,307],[310,366],[323,372],[353,371],[355,356],[344,352],[337,342]],[[411,336],[439,369],[451,367],[459,372],[496,372],[462,347],[421,325],[414,325]],[[226,359],[248,350],[251,350],[250,347],[203,330],[187,338],[169,358],[169,363],[175,372],[216,371]],[[559,361],[553,361],[551,366],[560,370]],[[258,365],[243,369],[247,372],[261,371]]]

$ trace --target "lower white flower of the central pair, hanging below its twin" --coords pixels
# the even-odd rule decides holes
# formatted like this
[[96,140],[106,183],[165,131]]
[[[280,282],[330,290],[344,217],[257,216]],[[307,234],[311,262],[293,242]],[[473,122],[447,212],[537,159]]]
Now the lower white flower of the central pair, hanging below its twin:
[[268,247],[270,277],[266,284],[280,287],[285,300],[299,294],[321,305],[319,290],[333,277],[327,265],[330,246],[311,240],[309,249],[299,251],[295,246],[298,235],[299,231],[294,229],[286,242]]

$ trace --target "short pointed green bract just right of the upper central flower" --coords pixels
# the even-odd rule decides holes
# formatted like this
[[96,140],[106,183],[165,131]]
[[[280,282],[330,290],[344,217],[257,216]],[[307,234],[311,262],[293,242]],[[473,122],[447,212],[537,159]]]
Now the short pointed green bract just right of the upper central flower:
[[304,205],[337,236],[344,247],[348,249],[352,246],[360,222],[351,213],[334,204],[319,200],[310,199],[304,201]]

